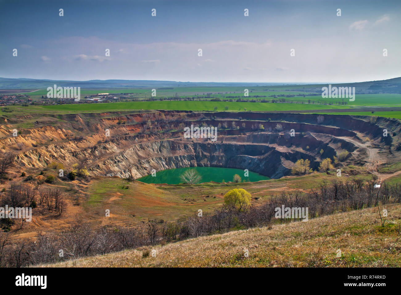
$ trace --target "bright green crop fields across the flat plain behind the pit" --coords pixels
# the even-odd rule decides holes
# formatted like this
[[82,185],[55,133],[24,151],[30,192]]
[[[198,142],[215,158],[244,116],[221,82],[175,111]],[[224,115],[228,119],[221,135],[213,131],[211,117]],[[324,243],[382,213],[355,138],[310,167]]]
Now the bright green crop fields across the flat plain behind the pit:
[[[119,98],[119,102],[110,103],[74,103],[74,104],[53,104],[53,105],[29,105],[29,106],[6,106],[1,108],[3,115],[12,114],[44,114],[44,113],[98,113],[113,111],[131,111],[131,110],[192,110],[192,111],[229,111],[229,112],[275,112],[275,111],[294,111],[294,112],[327,112],[327,114],[344,114],[344,115],[368,115],[368,116],[385,116],[390,118],[401,119],[401,112],[391,112],[393,107],[401,107],[401,94],[356,94],[355,100],[350,102],[348,98],[333,99],[322,98],[321,95],[311,95],[312,92],[305,91],[317,85],[281,85],[281,86],[216,86],[216,87],[159,87],[156,89],[156,97],[154,101],[148,101],[151,98],[151,88],[119,88],[119,89],[99,89],[99,88],[81,88],[81,98],[88,95],[98,93],[130,93],[129,98],[122,95],[115,95]],[[320,85],[321,86],[321,85]],[[249,90],[249,96],[244,97],[244,89]],[[296,89],[295,91],[292,91]],[[304,92],[303,92],[304,91]],[[32,99],[41,100],[42,96],[47,96],[47,90],[42,89],[35,92],[27,92]],[[208,96],[209,98],[204,98]],[[287,95],[294,97],[286,97]],[[298,96],[297,96],[298,95]],[[301,96],[299,96],[301,95]],[[305,95],[305,96],[304,96]],[[182,100],[160,100],[164,98],[172,98],[178,96]],[[196,97],[201,97],[197,100]],[[229,98],[227,96],[234,96]],[[236,102],[238,96],[241,100],[249,99],[256,102]],[[255,98],[255,96],[259,96]],[[278,96],[276,98],[271,96]],[[195,98],[192,100],[192,98]],[[213,98],[219,98],[222,101],[211,101]],[[137,101],[132,101],[132,100]],[[185,99],[185,100],[184,100]],[[272,103],[272,100],[285,100],[285,103]],[[229,101],[232,100],[232,101]],[[260,102],[267,100],[269,102]],[[55,102],[57,100],[55,99]],[[84,102],[81,99],[81,102]],[[48,101],[49,102],[49,101]],[[227,107],[227,108],[226,108]],[[366,112],[356,112],[353,108],[389,108],[372,110]],[[333,110],[330,112],[329,110]],[[343,112],[335,112],[335,110],[343,110]],[[360,110],[360,109],[359,109]]]

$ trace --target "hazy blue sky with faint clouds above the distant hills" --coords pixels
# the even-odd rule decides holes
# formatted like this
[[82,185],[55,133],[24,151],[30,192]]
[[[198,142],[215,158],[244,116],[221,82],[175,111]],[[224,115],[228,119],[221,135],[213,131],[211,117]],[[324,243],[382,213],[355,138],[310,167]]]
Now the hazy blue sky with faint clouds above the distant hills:
[[0,11],[0,77],[326,83],[401,76],[401,1],[9,0]]

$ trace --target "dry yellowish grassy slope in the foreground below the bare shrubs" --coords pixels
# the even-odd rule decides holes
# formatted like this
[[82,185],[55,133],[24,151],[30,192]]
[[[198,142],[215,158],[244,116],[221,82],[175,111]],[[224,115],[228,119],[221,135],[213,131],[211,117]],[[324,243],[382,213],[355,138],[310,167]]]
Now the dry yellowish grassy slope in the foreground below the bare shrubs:
[[[91,256],[77,267],[400,267],[401,204]],[[156,250],[156,256],[144,255]],[[244,249],[249,256],[244,256]],[[341,251],[341,256],[338,249]],[[71,267],[73,262],[41,265]]]

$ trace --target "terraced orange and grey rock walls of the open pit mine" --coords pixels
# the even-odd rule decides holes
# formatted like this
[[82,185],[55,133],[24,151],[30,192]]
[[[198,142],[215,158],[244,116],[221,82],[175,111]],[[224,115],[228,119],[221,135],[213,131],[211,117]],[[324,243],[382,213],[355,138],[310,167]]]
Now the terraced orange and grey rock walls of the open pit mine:
[[[322,159],[343,150],[351,153],[348,161],[363,165],[374,160],[371,149],[380,150],[382,158],[398,153],[401,128],[398,120],[388,118],[251,112],[113,112],[3,120],[1,151],[13,151],[18,165],[43,168],[57,162],[68,170],[85,161],[92,175],[134,178],[152,169],[190,166],[249,169],[279,178],[289,175],[298,159],[309,159],[316,169]],[[34,126],[17,128],[18,136],[12,136],[24,120]],[[182,130],[191,124],[218,127],[217,141],[184,138]]]

